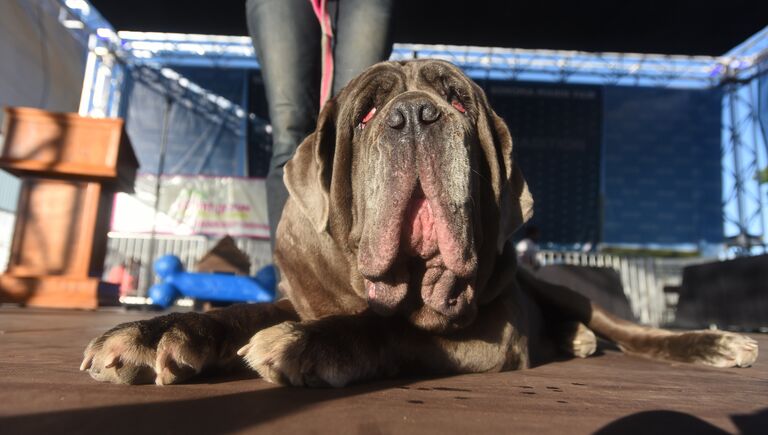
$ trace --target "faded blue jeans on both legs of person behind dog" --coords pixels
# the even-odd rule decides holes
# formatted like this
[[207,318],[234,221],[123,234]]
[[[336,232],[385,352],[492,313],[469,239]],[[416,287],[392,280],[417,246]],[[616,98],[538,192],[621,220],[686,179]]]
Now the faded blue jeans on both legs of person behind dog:
[[[328,2],[334,23],[334,95],[365,68],[389,57],[393,1]],[[272,124],[266,183],[274,249],[275,230],[288,198],[283,166],[314,130],[319,112],[320,25],[309,0],[248,0],[246,13]]]

